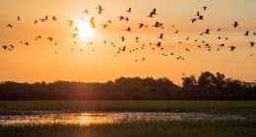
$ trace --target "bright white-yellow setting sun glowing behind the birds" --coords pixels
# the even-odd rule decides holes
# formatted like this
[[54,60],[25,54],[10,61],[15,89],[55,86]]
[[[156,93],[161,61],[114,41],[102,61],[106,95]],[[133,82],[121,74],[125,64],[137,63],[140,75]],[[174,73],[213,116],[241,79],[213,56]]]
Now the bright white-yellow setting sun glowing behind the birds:
[[78,23],[78,35],[82,40],[90,40],[95,35],[95,29],[88,21]]

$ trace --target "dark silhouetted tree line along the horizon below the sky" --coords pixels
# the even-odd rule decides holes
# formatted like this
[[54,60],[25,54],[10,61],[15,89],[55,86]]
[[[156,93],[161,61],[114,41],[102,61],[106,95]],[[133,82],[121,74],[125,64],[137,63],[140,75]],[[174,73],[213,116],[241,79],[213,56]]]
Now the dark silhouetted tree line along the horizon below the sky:
[[0,100],[255,100],[256,82],[225,78],[206,71],[182,78],[182,86],[167,78],[125,78],[105,83],[0,83]]

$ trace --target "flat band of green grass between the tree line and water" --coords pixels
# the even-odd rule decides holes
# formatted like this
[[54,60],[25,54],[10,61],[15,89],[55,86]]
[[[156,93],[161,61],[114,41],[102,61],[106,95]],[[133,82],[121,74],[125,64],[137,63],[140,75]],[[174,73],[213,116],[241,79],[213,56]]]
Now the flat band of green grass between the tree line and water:
[[256,114],[256,101],[7,101],[0,114],[42,112],[182,112]]

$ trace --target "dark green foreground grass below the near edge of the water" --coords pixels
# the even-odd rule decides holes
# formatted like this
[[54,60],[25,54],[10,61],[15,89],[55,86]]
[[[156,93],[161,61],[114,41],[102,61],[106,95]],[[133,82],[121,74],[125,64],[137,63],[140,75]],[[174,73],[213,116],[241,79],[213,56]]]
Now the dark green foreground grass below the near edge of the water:
[[135,121],[97,125],[0,125],[1,137],[255,137],[256,120]]

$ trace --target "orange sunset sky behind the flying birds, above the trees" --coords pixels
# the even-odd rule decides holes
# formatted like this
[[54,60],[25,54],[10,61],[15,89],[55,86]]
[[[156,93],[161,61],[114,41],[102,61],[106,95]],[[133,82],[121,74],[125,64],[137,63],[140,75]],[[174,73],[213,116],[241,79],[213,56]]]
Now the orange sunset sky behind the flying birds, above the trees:
[[[101,15],[97,15],[97,5],[103,8]],[[104,82],[121,76],[140,76],[167,77],[180,83],[182,73],[199,75],[206,70],[254,81],[256,47],[250,47],[249,42],[256,42],[256,36],[252,35],[256,32],[255,5],[255,0],[0,0],[0,46],[15,46],[12,51],[0,50],[0,81]],[[203,6],[208,9],[203,11]],[[128,8],[132,8],[132,13],[126,12]],[[148,18],[154,8],[158,15]],[[89,15],[82,13],[85,9]],[[205,20],[191,23],[197,11]],[[20,22],[16,21],[18,16]],[[58,22],[33,23],[45,16],[55,16]],[[119,16],[128,17],[130,22],[118,21]],[[89,21],[92,17],[96,22],[93,34],[85,38],[80,32],[73,38],[74,26],[82,29],[86,24],[82,18]],[[69,27],[69,20],[74,21],[74,26]],[[112,23],[102,28],[100,24],[108,20]],[[163,23],[163,29],[152,26],[157,21]],[[234,22],[240,25],[233,28]],[[9,23],[13,28],[7,27]],[[138,23],[149,26],[139,29]],[[132,32],[124,30],[128,26]],[[211,34],[199,35],[207,28]],[[217,31],[218,28],[222,30]],[[179,33],[175,34],[176,30]],[[250,36],[243,35],[247,30]],[[162,40],[158,38],[160,33],[164,33]],[[42,38],[35,41],[37,35]],[[126,38],[124,42],[121,36]],[[137,36],[140,37],[138,43],[135,42]],[[53,41],[49,42],[47,37],[53,37]],[[224,40],[225,37],[228,40]],[[107,44],[103,44],[104,40]],[[202,40],[211,45],[211,52],[197,47],[204,47]],[[88,44],[90,42],[94,44]],[[164,50],[155,45],[158,42]],[[225,47],[217,51],[222,43]],[[143,50],[142,45],[145,45]],[[126,52],[117,54],[118,48],[124,46]],[[230,52],[228,46],[235,46],[236,50]],[[129,52],[136,48],[139,50]],[[184,61],[176,60],[179,56]]]

